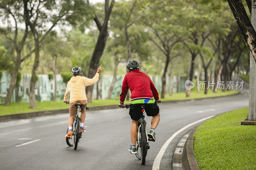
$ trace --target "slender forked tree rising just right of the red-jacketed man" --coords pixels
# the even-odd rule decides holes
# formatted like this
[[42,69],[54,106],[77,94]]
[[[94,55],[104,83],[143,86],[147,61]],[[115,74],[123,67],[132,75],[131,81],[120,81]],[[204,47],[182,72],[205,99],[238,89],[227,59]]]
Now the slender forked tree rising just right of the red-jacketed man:
[[[183,39],[182,13],[180,9],[184,5],[182,1],[163,1],[151,2],[151,11],[147,16],[143,17],[145,26],[149,34],[149,40],[152,41],[159,50],[165,55],[165,66],[162,76],[162,93],[164,98],[166,92],[166,74],[169,63],[175,56],[172,55],[172,49]],[[175,23],[175,25],[173,24]]]

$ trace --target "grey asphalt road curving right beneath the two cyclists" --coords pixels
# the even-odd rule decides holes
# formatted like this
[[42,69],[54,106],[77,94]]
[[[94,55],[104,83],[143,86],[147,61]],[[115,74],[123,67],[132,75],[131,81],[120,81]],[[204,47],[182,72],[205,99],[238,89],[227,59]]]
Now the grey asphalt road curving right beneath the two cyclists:
[[[156,142],[149,143],[145,166],[128,151],[131,144],[128,109],[87,112],[85,125],[88,127],[77,150],[68,147],[64,138],[68,114],[0,122],[0,169],[152,169],[163,144],[179,129],[211,115],[248,107],[246,84],[241,92],[243,94],[233,97],[159,104],[161,118],[156,128]],[[146,116],[148,130],[150,120]],[[174,149],[193,127],[172,140],[160,169],[172,169]],[[35,142],[21,145],[30,141]]]

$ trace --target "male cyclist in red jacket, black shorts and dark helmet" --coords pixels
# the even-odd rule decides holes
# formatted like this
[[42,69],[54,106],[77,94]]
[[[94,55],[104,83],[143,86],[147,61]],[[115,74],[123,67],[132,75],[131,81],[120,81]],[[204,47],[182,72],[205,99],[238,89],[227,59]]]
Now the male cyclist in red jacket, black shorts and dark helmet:
[[[141,118],[141,109],[140,106],[143,104],[146,107],[144,108],[148,116],[152,116],[151,120],[151,129],[148,133],[149,141],[156,141],[155,129],[160,121],[160,112],[157,102],[159,101],[158,92],[154,86],[152,80],[148,77],[147,74],[140,72],[139,63],[135,60],[131,60],[127,63],[126,68],[128,73],[124,76],[124,81],[122,85],[122,92],[120,94],[120,103],[119,105],[123,108],[125,107],[124,100],[127,94],[128,89],[131,90],[131,106],[129,114],[132,119],[131,126],[131,138],[132,145],[129,148],[129,151],[132,154],[137,153],[136,139],[138,136],[138,123]],[[154,97],[154,99],[153,99]]]

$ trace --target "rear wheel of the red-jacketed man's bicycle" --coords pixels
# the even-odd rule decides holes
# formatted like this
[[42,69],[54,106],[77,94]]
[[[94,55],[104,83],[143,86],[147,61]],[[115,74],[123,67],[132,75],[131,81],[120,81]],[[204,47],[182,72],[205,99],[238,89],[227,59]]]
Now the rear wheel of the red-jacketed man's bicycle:
[[146,122],[145,120],[141,121],[141,165],[145,165],[146,156],[148,152],[148,140],[146,134]]

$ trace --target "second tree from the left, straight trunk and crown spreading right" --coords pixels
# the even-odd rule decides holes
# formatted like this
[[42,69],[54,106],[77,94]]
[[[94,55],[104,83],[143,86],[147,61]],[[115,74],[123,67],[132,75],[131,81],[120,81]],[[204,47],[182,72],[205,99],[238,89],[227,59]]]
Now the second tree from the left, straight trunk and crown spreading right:
[[[74,24],[84,19],[87,15],[89,4],[84,1],[64,0],[61,2],[52,0],[23,0],[25,22],[30,27],[35,41],[35,60],[30,80],[29,107],[36,108],[35,84],[36,72],[39,66],[40,47],[44,38],[57,24],[65,21]],[[51,26],[48,27],[47,24]]]

